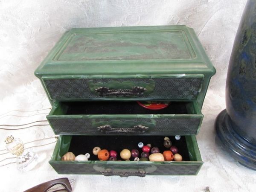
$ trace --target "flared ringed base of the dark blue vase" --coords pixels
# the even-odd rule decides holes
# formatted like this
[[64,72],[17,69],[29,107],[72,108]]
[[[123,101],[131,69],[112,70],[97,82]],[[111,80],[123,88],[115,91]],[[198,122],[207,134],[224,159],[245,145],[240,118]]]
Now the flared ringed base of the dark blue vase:
[[256,170],[256,145],[244,140],[230,125],[226,109],[218,114],[215,128],[221,143],[241,165]]

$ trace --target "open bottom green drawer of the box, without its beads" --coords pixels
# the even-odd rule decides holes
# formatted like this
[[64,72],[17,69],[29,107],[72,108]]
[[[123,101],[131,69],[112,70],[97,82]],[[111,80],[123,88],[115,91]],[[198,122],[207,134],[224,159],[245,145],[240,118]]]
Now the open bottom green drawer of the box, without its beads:
[[[168,136],[169,137],[169,136]],[[195,136],[181,136],[175,140],[169,137],[177,146],[183,161],[100,161],[93,155],[95,146],[102,149],[115,150],[117,153],[124,148],[133,149],[138,143],[150,143],[158,147],[160,152],[168,150],[163,146],[163,136],[60,136],[49,163],[58,174],[102,174],[105,176],[119,175],[121,177],[145,175],[197,175],[203,162]],[[89,161],[61,161],[68,151],[75,155],[90,153]],[[117,159],[120,159],[117,158]]]

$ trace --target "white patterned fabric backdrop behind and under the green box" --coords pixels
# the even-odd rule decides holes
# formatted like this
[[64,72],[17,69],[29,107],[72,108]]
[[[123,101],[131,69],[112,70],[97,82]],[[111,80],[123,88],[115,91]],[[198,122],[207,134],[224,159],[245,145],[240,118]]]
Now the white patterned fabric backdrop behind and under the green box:
[[[255,191],[256,172],[236,163],[215,141],[214,121],[225,108],[230,53],[246,0],[0,0],[0,187],[23,191],[47,180],[76,178],[83,191]],[[197,176],[103,177],[57,175],[48,160],[55,146],[46,120],[50,104],[34,70],[63,33],[78,27],[185,24],[195,29],[217,73],[212,78],[197,136],[204,165]],[[26,128],[27,126],[32,126]],[[17,129],[19,130],[3,130]],[[20,173],[6,154],[4,137],[20,137],[45,157]],[[254,190],[253,190],[254,189]]]

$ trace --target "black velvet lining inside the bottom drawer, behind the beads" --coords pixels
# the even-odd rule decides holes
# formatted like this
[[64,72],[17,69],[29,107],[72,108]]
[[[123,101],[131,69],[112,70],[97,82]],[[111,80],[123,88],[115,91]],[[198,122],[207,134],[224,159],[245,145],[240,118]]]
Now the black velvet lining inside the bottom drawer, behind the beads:
[[[185,137],[181,136],[180,140],[175,140],[175,136],[168,137],[172,141],[172,145],[178,148],[178,153],[183,157],[183,160],[189,161],[189,152]],[[108,151],[116,151],[118,154],[117,160],[122,160],[119,154],[124,148],[130,151],[135,148],[141,153],[142,149],[138,147],[138,143],[140,142],[144,143],[144,145],[150,143],[152,147],[158,147],[160,153],[163,153],[163,151],[169,150],[169,148],[163,146],[163,141],[163,136],[72,136],[69,151],[73,152],[76,156],[89,153],[89,160],[99,160],[93,154],[93,148],[98,146]],[[134,158],[131,157],[130,160],[134,160]]]

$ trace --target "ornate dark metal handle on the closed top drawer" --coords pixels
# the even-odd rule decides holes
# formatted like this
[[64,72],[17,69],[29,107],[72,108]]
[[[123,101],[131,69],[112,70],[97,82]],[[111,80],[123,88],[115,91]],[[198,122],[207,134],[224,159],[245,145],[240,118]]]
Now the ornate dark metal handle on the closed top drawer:
[[108,87],[98,87],[95,89],[99,93],[99,96],[143,96],[144,91],[147,89],[144,87],[133,87],[132,89],[109,89]]

